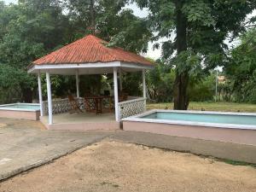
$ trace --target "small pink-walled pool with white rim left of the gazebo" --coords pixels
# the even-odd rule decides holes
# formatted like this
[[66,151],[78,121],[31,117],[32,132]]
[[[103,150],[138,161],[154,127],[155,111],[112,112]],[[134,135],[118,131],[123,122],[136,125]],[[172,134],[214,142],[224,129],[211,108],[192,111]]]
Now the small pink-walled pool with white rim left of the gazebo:
[[0,117],[14,119],[38,120],[40,105],[38,103],[11,103],[0,105]]

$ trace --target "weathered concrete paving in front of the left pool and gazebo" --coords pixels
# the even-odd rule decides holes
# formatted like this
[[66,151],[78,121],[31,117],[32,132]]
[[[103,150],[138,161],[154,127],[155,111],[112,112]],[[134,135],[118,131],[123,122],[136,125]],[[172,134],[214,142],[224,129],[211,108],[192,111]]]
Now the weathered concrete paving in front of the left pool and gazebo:
[[40,122],[27,120],[0,119],[0,123],[0,180],[113,134],[110,131],[47,131]]

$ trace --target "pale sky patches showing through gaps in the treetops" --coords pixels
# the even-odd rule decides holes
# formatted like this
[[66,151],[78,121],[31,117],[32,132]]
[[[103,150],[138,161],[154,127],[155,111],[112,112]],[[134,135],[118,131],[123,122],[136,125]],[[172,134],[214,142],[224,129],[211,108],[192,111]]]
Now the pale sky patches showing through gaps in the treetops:
[[[8,3],[17,3],[18,0],[3,0],[3,2],[5,2],[7,4]],[[125,9],[132,9],[133,14],[137,15],[138,17],[141,17],[141,18],[147,17],[147,15],[148,15],[148,9],[139,9],[135,3],[131,3],[129,5],[126,5]],[[250,18],[250,17],[255,16],[255,15],[256,15],[256,10],[254,10],[251,15],[248,15],[247,18]],[[161,43],[164,40],[166,40],[166,39],[162,38],[158,41],[158,43]],[[153,42],[153,43],[149,42],[148,43],[148,52],[146,54],[143,54],[144,56],[150,57],[152,59],[160,58],[160,55],[161,55],[160,49],[153,49],[153,45],[155,43],[156,42]],[[238,39],[236,39],[232,44],[229,44],[229,46],[233,47],[233,46],[236,46],[236,44],[239,44]]]

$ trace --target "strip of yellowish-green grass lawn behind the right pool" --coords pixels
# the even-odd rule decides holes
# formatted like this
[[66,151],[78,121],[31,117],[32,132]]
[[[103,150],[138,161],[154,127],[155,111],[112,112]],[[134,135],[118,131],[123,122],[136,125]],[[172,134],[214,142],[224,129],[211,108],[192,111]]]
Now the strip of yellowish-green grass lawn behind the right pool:
[[[173,103],[148,103],[148,109],[172,109]],[[189,102],[189,110],[255,112],[256,104],[236,102]]]

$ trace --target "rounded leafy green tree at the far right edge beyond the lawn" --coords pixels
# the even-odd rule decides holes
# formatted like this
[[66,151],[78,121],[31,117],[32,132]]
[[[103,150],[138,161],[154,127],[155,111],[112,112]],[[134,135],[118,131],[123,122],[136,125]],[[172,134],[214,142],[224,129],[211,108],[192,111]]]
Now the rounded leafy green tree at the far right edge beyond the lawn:
[[237,102],[256,103],[256,27],[241,35],[241,44],[232,49],[224,67]]

